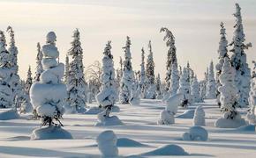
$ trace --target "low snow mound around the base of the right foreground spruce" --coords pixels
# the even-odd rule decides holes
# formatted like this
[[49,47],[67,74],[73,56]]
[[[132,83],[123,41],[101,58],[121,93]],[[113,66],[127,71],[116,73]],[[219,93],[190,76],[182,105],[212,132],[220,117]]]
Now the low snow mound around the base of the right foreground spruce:
[[240,126],[245,126],[246,121],[244,118],[241,118],[240,115],[237,115],[236,118],[230,119],[226,118],[218,118],[215,122],[215,126],[219,128],[237,128]]

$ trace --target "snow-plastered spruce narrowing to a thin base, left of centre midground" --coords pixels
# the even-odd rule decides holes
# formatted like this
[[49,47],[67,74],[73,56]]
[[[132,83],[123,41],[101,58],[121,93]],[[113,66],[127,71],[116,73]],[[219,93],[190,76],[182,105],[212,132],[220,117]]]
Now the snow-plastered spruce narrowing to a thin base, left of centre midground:
[[102,87],[97,95],[97,102],[105,110],[105,117],[109,117],[109,113],[116,102],[117,90],[115,85],[115,69],[113,55],[111,54],[111,41],[108,41],[104,49],[104,57],[102,59]]

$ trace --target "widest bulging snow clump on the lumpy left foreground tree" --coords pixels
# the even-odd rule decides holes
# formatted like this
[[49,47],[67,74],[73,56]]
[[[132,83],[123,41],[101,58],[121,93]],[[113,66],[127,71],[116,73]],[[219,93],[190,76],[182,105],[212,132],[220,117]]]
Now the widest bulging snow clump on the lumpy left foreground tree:
[[[54,116],[56,107],[62,109],[66,97],[65,84],[34,83],[30,90],[31,103],[41,116]],[[53,102],[56,106],[48,104]],[[43,105],[42,105],[43,104]]]

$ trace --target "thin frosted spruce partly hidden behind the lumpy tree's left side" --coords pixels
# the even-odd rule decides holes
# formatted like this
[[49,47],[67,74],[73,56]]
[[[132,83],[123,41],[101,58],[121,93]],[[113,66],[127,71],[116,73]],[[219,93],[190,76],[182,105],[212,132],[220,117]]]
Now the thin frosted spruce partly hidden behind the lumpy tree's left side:
[[41,53],[41,46],[40,43],[37,43],[37,54],[36,54],[36,68],[35,68],[35,75],[34,75],[34,82],[39,82],[40,75],[43,71],[41,65],[42,53]]

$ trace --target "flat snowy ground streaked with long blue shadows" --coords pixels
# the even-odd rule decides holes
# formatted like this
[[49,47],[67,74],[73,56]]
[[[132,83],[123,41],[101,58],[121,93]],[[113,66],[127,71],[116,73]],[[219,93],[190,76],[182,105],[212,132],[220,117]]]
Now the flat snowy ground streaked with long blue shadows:
[[[98,104],[90,104],[97,106]],[[64,129],[72,133],[73,140],[30,140],[38,120],[27,120],[31,114],[21,115],[19,119],[0,121],[0,157],[93,157],[100,158],[101,153],[96,144],[96,137],[106,130],[112,130],[117,138],[136,140],[144,147],[118,147],[120,156],[141,155],[166,145],[177,145],[192,157],[255,157],[255,132],[239,129],[222,129],[215,127],[215,120],[222,117],[215,100],[192,104],[195,109],[202,105],[206,112],[207,141],[184,141],[181,135],[189,131],[192,118],[175,118],[176,124],[171,126],[156,125],[159,113],[166,104],[161,100],[141,99],[136,106],[117,104],[121,111],[118,117],[123,126],[94,126],[96,115],[64,114],[61,121]],[[245,118],[246,109],[240,110]],[[0,109],[0,111],[4,111]],[[185,110],[179,108],[177,115]],[[118,142],[118,140],[117,140]],[[128,143],[127,143],[128,144]],[[153,155],[152,155],[153,156]],[[157,155],[156,155],[157,156]],[[155,157],[156,157],[155,156]],[[145,157],[149,157],[145,155]],[[157,157],[160,157],[159,155]],[[162,156],[162,157],[169,157]]]

